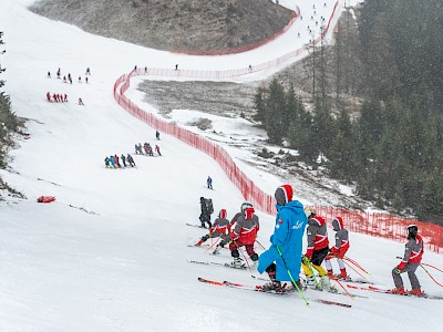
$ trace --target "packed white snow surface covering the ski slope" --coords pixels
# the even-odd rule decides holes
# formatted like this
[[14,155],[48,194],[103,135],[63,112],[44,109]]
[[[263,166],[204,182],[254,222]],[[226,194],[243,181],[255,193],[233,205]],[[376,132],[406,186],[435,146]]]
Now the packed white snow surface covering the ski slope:
[[[187,262],[230,261],[228,250],[213,257],[205,252],[207,247],[187,247],[205,234],[186,226],[198,222],[199,197],[210,197],[216,212],[226,208],[229,218],[243,197],[210,157],[167,135],[155,141],[155,131],[113,98],[115,80],[135,64],[173,68],[179,63],[212,70],[276,59],[307,42],[297,41],[297,29],[306,31],[313,4],[326,12],[329,7],[323,8],[323,2],[331,7],[332,1],[280,0],[290,8],[297,3],[303,14],[303,22],[280,40],[244,54],[199,58],[84,33],[27,11],[31,0],[2,1],[0,30],[7,53],[1,64],[7,72],[1,79],[7,81],[13,111],[27,118],[30,138],[17,137],[10,168],[0,172],[28,198],[7,197],[0,204],[1,331],[293,331],[301,326],[323,332],[440,331],[443,301],[367,291],[353,292],[368,299],[351,300],[307,291],[308,300],[324,298],[352,308],[313,301],[307,307],[297,294],[275,297],[198,282],[197,277],[264,282],[254,280],[249,271]],[[286,38],[293,43],[281,42]],[[56,79],[59,68],[62,75],[72,74],[72,85]],[[87,84],[86,68],[92,72]],[[248,80],[268,74],[255,73]],[[83,83],[78,82],[79,75]],[[66,93],[69,103],[48,103],[47,92]],[[128,95],[136,97],[136,92]],[[79,97],[84,106],[78,105]],[[184,115],[177,111],[173,116],[181,122]],[[217,131],[248,137],[241,120],[214,122]],[[260,135],[250,129],[251,135]],[[158,144],[163,156],[133,154],[137,168],[104,167],[105,156],[133,153],[138,142]],[[241,149],[229,148],[229,153],[247,158]],[[247,174],[270,194],[281,185],[278,177],[257,167],[249,167]],[[208,175],[215,190],[205,187]],[[295,187],[296,196],[303,190]],[[38,204],[41,195],[56,200]],[[258,241],[267,248],[274,217],[257,215]],[[329,237],[333,241],[332,230]],[[262,252],[259,245],[256,250]],[[379,287],[393,287],[391,270],[402,255],[402,243],[351,235],[349,257],[370,271],[367,278]],[[426,251],[423,261],[443,268],[443,258],[433,252]],[[430,272],[443,281],[443,273]],[[360,278],[350,269],[349,273]],[[402,276],[409,288],[408,277]],[[418,276],[427,293],[443,293],[423,270]]]

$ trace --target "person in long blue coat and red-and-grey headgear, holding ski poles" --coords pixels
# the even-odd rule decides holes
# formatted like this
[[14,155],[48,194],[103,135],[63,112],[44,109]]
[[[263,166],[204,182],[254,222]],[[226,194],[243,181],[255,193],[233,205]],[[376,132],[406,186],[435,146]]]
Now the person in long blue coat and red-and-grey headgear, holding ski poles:
[[282,290],[282,281],[297,283],[299,281],[301,250],[305,228],[308,219],[303,212],[303,205],[292,200],[293,190],[290,185],[276,189],[277,216],[274,235],[270,237],[268,250],[260,255],[257,271],[267,272],[269,283],[264,290]]

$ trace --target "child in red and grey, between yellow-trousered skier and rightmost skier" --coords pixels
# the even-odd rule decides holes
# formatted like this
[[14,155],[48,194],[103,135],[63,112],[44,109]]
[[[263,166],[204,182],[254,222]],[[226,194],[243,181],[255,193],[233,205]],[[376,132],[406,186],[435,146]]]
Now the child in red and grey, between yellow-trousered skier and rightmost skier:
[[[330,278],[337,279],[348,279],[348,273],[343,262],[343,257],[349,249],[349,232],[343,227],[343,219],[341,217],[336,217],[332,220],[332,228],[336,231],[336,246],[331,248],[330,253],[324,259],[324,264],[328,270],[328,276]],[[340,273],[333,274],[331,259],[337,258],[337,262],[340,267]]]

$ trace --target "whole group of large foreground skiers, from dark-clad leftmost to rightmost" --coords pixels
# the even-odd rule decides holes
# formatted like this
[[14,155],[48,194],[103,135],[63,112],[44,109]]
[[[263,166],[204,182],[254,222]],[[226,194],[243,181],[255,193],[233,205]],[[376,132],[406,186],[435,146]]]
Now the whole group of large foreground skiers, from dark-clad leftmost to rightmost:
[[[209,238],[217,239],[217,246],[213,251],[219,253],[219,249],[229,245],[230,255],[234,258],[233,267],[246,268],[239,256],[238,249],[245,247],[250,260],[251,269],[259,273],[267,272],[270,281],[262,286],[265,291],[285,291],[287,282],[295,288],[303,287],[322,289],[330,292],[337,291],[330,283],[333,280],[350,280],[343,259],[350,248],[349,232],[344,228],[342,217],[338,216],[331,220],[332,229],[336,231],[334,245],[329,247],[327,221],[317,215],[316,208],[307,207],[298,200],[292,200],[293,190],[290,185],[284,185],[276,189],[275,199],[277,216],[274,234],[270,237],[270,247],[260,256],[255,252],[257,232],[259,231],[259,219],[255,215],[250,203],[244,203],[240,211],[229,221],[226,209],[220,209],[214,225],[210,224],[210,214],[214,211],[210,199],[200,197],[200,222],[202,227],[208,224],[209,232],[202,237],[196,246],[200,246]],[[209,208],[210,206],[210,208]],[[307,235],[307,249],[302,255],[302,239]],[[406,229],[408,243],[402,261],[392,270],[395,288],[392,293],[406,294],[403,287],[401,273],[408,272],[411,295],[423,295],[415,270],[420,266],[423,256],[423,239],[418,234],[418,227],[410,225]],[[340,272],[334,274],[331,260],[337,259]],[[322,267],[324,262],[326,269]],[[257,264],[258,263],[258,264]],[[306,281],[302,284],[299,279],[300,268]],[[316,276],[318,273],[318,276]],[[317,282],[317,277],[320,281]]]

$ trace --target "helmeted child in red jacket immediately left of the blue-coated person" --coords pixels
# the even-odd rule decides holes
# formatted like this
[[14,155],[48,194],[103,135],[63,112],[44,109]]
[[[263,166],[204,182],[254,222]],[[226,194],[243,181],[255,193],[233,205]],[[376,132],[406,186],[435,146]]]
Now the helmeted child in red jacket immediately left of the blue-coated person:
[[243,210],[243,215],[238,217],[236,226],[230,234],[229,250],[234,261],[230,263],[235,268],[245,268],[245,263],[240,258],[238,249],[245,246],[246,252],[254,262],[254,268],[258,261],[258,255],[254,250],[254,243],[257,232],[260,229],[258,217],[254,214],[254,207],[247,207]]

